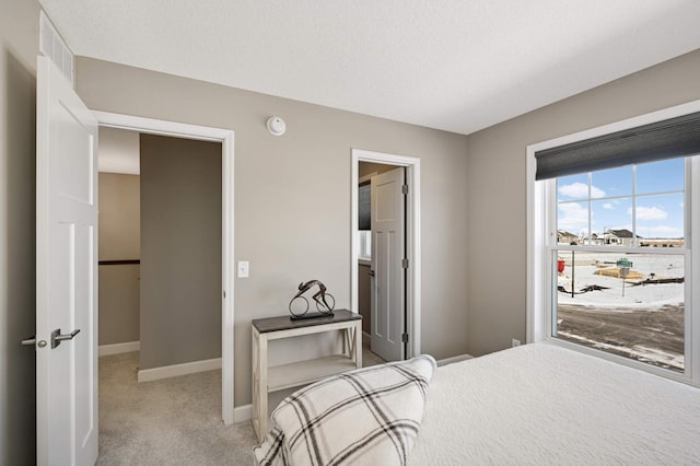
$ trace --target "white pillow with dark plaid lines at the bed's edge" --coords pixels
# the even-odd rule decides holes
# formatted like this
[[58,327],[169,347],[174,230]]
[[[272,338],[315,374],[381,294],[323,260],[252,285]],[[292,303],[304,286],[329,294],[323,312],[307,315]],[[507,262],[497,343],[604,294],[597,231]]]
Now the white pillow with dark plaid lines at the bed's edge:
[[430,356],[334,375],[272,412],[260,465],[405,465],[423,417]]

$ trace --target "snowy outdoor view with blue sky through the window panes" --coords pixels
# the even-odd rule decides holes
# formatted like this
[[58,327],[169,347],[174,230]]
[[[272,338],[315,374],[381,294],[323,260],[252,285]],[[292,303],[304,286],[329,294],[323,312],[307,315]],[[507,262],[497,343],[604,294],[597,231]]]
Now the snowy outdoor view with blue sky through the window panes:
[[552,336],[684,372],[686,159],[556,186]]

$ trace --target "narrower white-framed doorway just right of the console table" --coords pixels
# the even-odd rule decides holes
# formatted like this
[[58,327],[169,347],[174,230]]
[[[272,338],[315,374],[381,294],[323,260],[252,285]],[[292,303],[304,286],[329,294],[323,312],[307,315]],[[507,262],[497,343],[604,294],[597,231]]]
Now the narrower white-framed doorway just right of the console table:
[[[394,178],[399,182],[393,183]],[[377,186],[382,185],[392,193],[398,189],[397,194],[387,191],[377,196],[375,186],[370,187],[374,199],[372,196],[368,199],[366,184],[370,183],[371,186],[373,179]],[[389,189],[390,186],[393,187]],[[382,235],[382,230],[385,230],[384,226],[387,226],[376,222],[378,217],[386,217],[384,213],[376,214],[376,200],[380,198],[384,199],[381,209],[383,212],[390,210],[400,213],[400,241],[377,238],[377,235]],[[398,198],[402,199],[399,199],[400,206],[396,207],[398,203],[395,200]],[[420,160],[353,149],[351,200],[351,308],[363,314],[363,333],[371,340],[370,349],[373,352],[390,361],[420,354]],[[377,218],[361,218],[361,202],[372,206],[369,210]],[[392,209],[387,210],[388,207]],[[368,209],[363,210],[366,212]],[[394,225],[389,230],[396,232]],[[368,243],[372,245],[368,246]],[[392,252],[381,254],[382,251],[377,249],[380,243],[392,248]],[[396,249],[393,244],[400,244],[400,247]],[[385,264],[377,263],[380,257],[385,259]],[[389,265],[388,260],[393,264]],[[392,282],[390,287],[387,286],[388,280],[383,281],[383,278],[393,280],[392,277],[397,271],[401,275],[401,283]],[[380,286],[385,291],[384,295],[377,292]],[[389,288],[390,293],[386,293]],[[378,299],[384,301],[384,307],[377,303]],[[387,343],[393,347],[387,349]]]

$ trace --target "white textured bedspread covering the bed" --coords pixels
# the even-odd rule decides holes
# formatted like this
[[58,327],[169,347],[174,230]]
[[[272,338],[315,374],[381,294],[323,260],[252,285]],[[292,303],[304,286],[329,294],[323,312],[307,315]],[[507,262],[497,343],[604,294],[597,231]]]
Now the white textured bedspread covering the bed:
[[439,368],[409,465],[700,465],[700,389],[526,345]]

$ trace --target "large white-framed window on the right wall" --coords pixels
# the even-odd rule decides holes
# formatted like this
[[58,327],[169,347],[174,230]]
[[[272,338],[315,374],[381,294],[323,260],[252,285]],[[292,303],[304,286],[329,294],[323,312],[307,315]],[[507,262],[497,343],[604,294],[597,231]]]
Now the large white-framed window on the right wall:
[[528,341],[700,385],[690,107],[528,148]]

